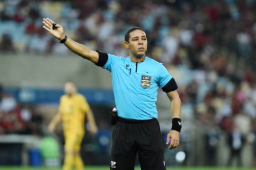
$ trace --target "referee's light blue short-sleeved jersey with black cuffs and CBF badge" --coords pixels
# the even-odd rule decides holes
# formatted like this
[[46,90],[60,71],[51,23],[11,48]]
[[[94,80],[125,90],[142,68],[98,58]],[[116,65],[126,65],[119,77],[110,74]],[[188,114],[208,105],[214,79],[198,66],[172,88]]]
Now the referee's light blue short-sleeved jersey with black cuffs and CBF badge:
[[130,57],[99,52],[96,65],[112,75],[115,104],[119,117],[132,120],[158,118],[156,99],[158,89],[166,92],[177,89],[172,76],[156,60],[146,56],[143,62],[132,62]]

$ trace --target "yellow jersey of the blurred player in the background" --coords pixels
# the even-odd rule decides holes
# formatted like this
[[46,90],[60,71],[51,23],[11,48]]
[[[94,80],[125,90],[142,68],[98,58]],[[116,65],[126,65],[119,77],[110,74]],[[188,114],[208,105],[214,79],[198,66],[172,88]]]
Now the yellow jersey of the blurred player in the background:
[[61,96],[59,114],[61,114],[65,136],[84,135],[84,118],[89,110],[90,105],[83,95],[75,93],[71,96]]

